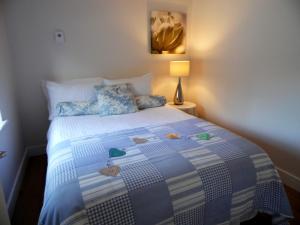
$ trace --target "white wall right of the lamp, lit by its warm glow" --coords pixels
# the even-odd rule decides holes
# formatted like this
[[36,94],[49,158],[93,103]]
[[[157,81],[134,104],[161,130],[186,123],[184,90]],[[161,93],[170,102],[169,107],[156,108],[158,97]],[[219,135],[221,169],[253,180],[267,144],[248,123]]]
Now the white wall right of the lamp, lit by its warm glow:
[[192,9],[199,113],[300,177],[300,1],[194,0]]

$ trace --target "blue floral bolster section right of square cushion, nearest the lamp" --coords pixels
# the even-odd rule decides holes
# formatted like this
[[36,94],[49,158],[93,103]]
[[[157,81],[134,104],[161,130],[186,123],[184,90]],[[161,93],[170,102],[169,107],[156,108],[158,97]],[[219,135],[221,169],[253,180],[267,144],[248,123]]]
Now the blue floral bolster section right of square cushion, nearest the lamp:
[[159,95],[136,96],[135,100],[139,109],[159,107],[165,105],[167,102],[165,96],[159,96]]

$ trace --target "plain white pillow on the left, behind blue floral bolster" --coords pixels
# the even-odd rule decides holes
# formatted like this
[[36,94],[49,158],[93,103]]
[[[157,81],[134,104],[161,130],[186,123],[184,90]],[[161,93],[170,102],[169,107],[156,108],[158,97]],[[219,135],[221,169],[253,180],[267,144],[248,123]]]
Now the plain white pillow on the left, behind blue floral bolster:
[[59,102],[94,101],[97,100],[95,85],[103,84],[102,78],[88,78],[56,83],[42,81],[42,86],[48,100],[49,120],[54,119],[56,105]]

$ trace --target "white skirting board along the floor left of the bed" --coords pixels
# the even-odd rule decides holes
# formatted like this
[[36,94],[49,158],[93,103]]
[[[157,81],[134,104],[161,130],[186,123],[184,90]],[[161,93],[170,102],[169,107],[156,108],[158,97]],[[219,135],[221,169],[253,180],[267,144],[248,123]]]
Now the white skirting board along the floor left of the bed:
[[23,158],[20,164],[20,167],[18,169],[16,179],[14,181],[12,190],[10,192],[8,201],[7,201],[7,210],[8,210],[8,215],[10,218],[12,218],[12,215],[14,213],[16,201],[18,199],[20,187],[23,181],[25,169],[27,166],[28,159],[32,156],[38,156],[38,155],[43,155],[46,153],[46,145],[37,145],[37,146],[31,146],[25,148]]

